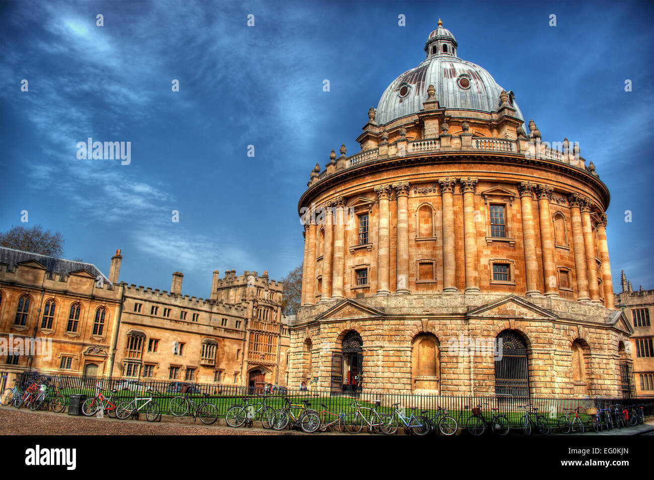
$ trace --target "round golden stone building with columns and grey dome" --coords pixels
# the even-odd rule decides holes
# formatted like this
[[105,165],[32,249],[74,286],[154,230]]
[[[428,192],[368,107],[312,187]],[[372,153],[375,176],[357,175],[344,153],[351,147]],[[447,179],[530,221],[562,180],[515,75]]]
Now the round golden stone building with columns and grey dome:
[[619,395],[632,328],[613,306],[608,189],[457,48],[439,20],[361,151],[311,171],[288,383]]

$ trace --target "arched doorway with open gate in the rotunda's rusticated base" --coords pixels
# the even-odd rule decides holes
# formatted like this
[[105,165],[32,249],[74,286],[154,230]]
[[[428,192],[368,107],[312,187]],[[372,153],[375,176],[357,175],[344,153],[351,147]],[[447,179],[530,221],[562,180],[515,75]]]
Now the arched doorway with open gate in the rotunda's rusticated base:
[[363,380],[363,341],[358,332],[347,332],[341,351],[332,353],[332,390],[356,393]]

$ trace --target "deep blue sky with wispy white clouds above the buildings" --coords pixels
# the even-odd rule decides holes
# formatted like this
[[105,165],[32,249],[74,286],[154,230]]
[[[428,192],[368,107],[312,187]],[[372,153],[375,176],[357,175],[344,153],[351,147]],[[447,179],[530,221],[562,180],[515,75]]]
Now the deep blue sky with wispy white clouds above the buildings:
[[[167,290],[181,270],[189,295],[208,296],[215,269],[282,278],[302,261],[311,168],[343,142],[358,152],[368,108],[424,59],[441,17],[458,56],[513,90],[543,140],[567,136],[596,165],[614,289],[622,269],[654,288],[653,14],[638,2],[3,1],[0,231],[27,210],[28,226],[63,233],[67,257],[107,274],[120,248],[120,280]],[[77,159],[89,136],[131,142],[131,163]]]

